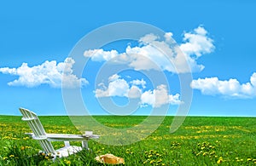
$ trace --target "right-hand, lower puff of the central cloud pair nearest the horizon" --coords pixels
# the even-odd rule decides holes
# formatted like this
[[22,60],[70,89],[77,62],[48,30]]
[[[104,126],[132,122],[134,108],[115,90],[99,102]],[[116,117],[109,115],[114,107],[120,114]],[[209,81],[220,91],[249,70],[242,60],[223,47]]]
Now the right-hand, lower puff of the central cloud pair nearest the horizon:
[[160,107],[166,104],[180,105],[183,102],[180,100],[179,94],[168,94],[166,85],[160,84],[154,90],[148,90],[141,96],[143,105]]

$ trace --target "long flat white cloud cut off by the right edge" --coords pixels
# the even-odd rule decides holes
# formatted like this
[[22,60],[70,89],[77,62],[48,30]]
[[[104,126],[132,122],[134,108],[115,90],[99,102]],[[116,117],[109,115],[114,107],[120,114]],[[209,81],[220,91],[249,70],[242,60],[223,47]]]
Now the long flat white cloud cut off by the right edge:
[[256,72],[249,83],[239,83],[236,79],[218,80],[218,77],[206,77],[193,80],[193,89],[201,90],[202,94],[223,95],[231,98],[253,98],[256,96]]

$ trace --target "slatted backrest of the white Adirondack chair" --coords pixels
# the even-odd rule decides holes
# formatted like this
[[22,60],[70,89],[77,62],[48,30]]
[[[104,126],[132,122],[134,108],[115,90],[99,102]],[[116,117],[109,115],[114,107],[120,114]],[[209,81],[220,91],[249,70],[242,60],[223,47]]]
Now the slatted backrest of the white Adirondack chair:
[[36,113],[31,112],[25,108],[20,108],[20,112],[23,115],[21,118],[23,121],[26,121],[32,129],[32,132],[34,134],[33,139],[38,140],[40,145],[43,147],[44,152],[47,153],[53,153],[55,154],[55,149],[50,143],[49,140],[47,140],[47,136],[44,130],[44,127],[40,120],[38,119],[38,116]]

